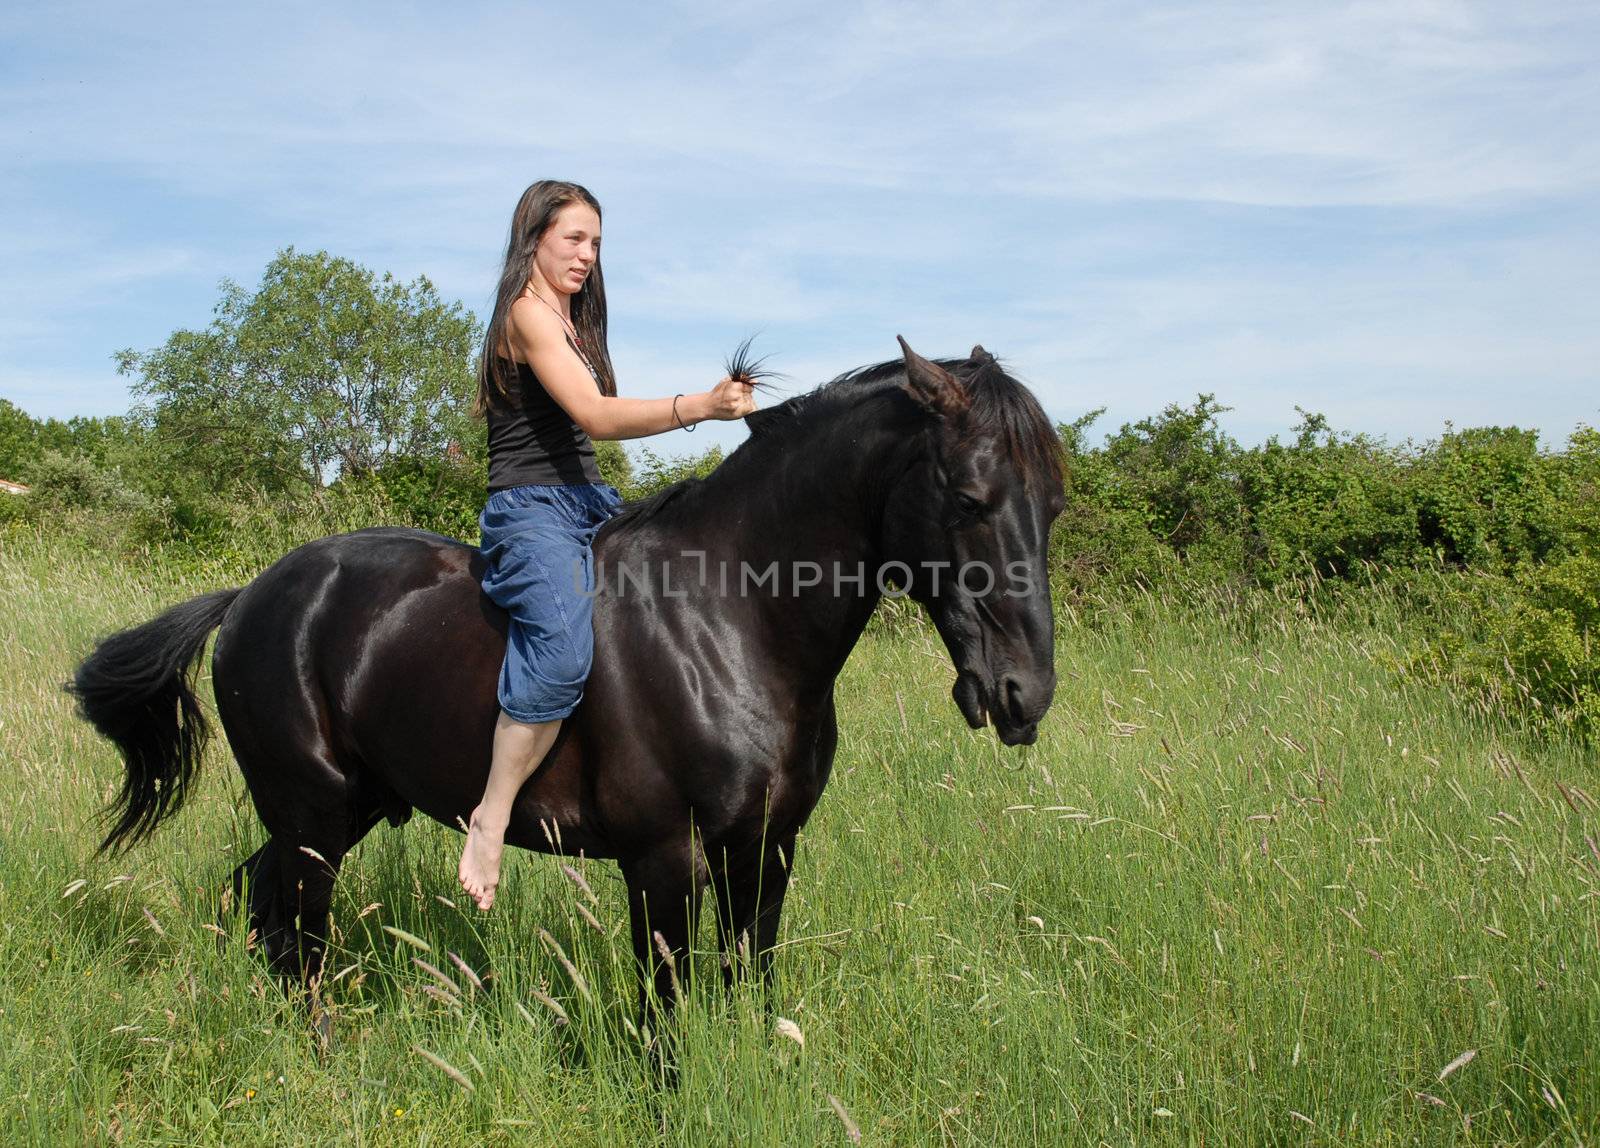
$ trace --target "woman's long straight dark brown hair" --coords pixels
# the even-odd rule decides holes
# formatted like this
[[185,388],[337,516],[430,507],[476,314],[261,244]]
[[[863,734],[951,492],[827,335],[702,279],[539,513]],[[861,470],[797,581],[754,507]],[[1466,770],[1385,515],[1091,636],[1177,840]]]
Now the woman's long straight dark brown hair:
[[[515,366],[501,355],[506,345],[506,320],[510,305],[528,286],[533,275],[533,253],[539,238],[555,222],[555,213],[570,203],[582,203],[600,214],[600,201],[578,184],[562,179],[541,179],[531,184],[517,200],[510,217],[510,238],[506,241],[506,265],[501,269],[499,289],[494,293],[494,312],[490,328],[483,333],[483,353],[478,357],[478,397],[472,403],[474,414],[485,414],[491,406],[499,409],[515,400],[510,395],[510,379]],[[600,257],[595,256],[582,288],[573,296],[573,329],[584,345],[584,357],[598,376],[602,395],[616,393],[616,374],[611,371],[611,352],[605,344],[605,277],[600,273]]]

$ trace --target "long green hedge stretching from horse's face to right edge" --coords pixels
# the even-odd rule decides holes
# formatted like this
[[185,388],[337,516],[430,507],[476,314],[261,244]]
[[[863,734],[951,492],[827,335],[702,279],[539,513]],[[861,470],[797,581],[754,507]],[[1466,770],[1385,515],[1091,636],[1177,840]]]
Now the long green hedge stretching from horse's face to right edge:
[[1218,425],[1224,409],[1200,395],[1096,448],[1085,435],[1099,411],[1059,427],[1069,478],[1054,550],[1067,585],[1277,585],[1363,563],[1509,574],[1600,537],[1600,436],[1587,427],[1558,452],[1515,427],[1389,446],[1302,411],[1291,441],[1242,448]]

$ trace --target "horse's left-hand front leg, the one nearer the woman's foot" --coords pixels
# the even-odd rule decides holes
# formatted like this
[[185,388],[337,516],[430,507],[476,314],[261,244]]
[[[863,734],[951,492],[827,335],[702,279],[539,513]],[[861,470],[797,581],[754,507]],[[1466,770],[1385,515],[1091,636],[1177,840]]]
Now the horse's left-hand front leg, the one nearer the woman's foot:
[[640,1023],[661,1036],[678,996],[690,987],[690,943],[699,926],[704,865],[693,843],[658,849],[622,863],[638,961]]

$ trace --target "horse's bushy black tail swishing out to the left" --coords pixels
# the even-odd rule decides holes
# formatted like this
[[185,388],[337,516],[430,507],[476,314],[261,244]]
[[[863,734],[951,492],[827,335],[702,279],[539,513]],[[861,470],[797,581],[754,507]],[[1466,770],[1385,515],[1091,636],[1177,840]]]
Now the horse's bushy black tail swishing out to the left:
[[106,638],[67,684],[78,713],[122,750],[128,775],[101,843],[126,849],[176,814],[211,731],[194,694],[194,662],[238,590],[216,590]]

